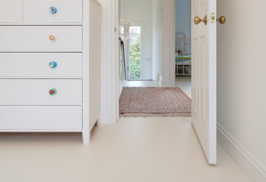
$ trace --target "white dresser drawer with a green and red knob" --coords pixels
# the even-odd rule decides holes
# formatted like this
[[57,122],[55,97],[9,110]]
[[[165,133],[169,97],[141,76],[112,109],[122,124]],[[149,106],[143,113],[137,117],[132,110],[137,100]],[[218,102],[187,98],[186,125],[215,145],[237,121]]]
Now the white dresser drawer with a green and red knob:
[[[53,95],[50,90],[57,90]],[[80,105],[81,79],[0,79],[0,105]]]

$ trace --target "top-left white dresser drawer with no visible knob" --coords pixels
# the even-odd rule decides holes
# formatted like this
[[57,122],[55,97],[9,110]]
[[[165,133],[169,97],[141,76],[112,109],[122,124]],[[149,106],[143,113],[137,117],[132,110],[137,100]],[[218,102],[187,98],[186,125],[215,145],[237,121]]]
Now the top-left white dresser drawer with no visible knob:
[[23,22],[23,0],[0,1],[0,23]]

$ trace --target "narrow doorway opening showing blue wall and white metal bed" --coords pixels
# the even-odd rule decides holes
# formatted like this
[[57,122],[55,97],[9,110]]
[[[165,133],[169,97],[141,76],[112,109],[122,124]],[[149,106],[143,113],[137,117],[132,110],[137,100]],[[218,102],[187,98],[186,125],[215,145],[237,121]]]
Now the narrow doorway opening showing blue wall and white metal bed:
[[191,98],[191,1],[176,0],[175,86]]

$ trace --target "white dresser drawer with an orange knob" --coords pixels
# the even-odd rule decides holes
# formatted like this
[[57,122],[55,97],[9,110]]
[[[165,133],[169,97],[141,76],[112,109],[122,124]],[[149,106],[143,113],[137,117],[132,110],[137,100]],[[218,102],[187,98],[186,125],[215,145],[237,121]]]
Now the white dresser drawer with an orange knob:
[[0,32],[1,50],[82,49],[82,26],[0,26]]

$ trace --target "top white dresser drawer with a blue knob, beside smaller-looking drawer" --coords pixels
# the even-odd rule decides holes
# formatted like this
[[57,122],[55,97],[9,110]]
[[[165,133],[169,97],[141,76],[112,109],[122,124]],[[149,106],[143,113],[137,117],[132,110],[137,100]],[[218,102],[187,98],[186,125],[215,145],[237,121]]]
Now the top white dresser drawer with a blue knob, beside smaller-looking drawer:
[[82,0],[25,0],[26,22],[82,22],[82,4]]

